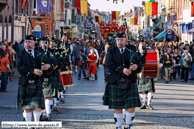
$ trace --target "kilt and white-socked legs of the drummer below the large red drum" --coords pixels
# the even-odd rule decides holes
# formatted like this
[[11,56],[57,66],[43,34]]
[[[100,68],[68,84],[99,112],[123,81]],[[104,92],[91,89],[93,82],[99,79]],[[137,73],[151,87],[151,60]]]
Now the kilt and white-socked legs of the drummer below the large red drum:
[[[146,109],[146,106],[153,110],[151,106],[151,100],[153,98],[153,93],[155,92],[154,79],[153,78],[140,78],[138,79],[138,92],[142,100],[142,106],[140,109]],[[148,95],[148,101],[146,104],[146,94]]]

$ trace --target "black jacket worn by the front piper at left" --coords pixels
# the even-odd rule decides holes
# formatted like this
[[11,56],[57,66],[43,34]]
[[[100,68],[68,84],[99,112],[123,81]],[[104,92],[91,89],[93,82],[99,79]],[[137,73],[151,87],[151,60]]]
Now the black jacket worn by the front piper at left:
[[34,69],[41,69],[41,59],[37,52],[34,51],[35,58],[31,57],[25,49],[16,53],[16,67],[19,72],[18,85],[24,85],[28,80],[34,80],[35,83],[40,81],[40,77],[34,75]]

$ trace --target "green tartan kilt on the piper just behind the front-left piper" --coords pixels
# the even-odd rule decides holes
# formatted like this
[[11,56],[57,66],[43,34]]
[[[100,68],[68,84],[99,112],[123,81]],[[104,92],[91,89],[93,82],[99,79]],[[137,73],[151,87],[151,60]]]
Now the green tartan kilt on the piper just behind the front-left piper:
[[52,77],[49,79],[48,87],[43,89],[44,98],[49,98],[49,97],[55,96],[56,90],[57,90],[55,83],[56,83],[55,77]]

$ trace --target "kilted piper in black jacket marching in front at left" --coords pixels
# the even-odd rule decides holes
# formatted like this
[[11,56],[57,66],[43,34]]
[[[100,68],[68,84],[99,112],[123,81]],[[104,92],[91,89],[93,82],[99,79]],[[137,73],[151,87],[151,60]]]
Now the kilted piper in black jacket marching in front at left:
[[41,109],[45,108],[43,89],[40,77],[42,70],[51,68],[50,64],[41,66],[39,53],[34,51],[35,37],[26,36],[24,49],[16,54],[16,67],[19,72],[17,109],[24,110],[23,116],[27,122],[31,121],[33,110],[34,121],[39,121]]

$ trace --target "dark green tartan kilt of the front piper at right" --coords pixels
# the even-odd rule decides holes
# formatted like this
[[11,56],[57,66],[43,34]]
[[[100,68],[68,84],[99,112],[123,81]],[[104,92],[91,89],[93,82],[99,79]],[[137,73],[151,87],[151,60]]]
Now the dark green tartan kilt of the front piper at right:
[[103,105],[109,109],[127,109],[140,107],[137,84],[130,84],[127,89],[120,89],[117,84],[107,83],[103,96]]

